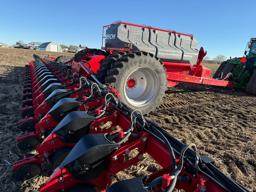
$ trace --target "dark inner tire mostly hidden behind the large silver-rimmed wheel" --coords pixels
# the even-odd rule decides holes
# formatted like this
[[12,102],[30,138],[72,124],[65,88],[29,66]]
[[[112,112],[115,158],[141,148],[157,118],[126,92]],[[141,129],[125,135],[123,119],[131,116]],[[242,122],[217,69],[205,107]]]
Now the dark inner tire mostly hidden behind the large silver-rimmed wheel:
[[122,57],[122,55],[125,55],[125,54],[126,54],[126,52],[120,51],[120,52],[111,54],[111,55],[109,55],[108,58],[104,59],[103,63],[100,64],[100,68],[97,70],[96,78],[101,83],[106,83],[108,70],[111,69],[111,64],[115,63],[118,59],[120,59]]

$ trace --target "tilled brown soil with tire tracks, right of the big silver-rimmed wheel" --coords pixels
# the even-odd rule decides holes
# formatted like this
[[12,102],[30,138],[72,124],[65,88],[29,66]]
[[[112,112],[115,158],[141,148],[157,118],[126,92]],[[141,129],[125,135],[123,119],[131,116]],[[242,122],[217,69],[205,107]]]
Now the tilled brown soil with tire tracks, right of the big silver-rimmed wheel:
[[149,118],[250,190],[256,190],[256,100],[242,91],[178,85]]

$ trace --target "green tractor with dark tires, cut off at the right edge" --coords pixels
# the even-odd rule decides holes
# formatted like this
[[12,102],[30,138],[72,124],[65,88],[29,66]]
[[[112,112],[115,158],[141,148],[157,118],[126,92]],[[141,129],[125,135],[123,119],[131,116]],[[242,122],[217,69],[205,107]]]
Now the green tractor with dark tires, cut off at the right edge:
[[247,43],[244,57],[222,62],[213,78],[228,78],[235,82],[235,88],[245,89],[246,93],[256,95],[256,38],[251,38]]

